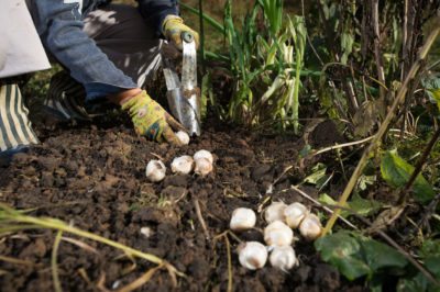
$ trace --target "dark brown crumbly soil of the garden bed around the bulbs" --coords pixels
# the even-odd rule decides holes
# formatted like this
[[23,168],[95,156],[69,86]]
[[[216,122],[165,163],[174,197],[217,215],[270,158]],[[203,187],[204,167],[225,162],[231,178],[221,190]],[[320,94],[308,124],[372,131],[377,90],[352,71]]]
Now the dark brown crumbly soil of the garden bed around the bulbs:
[[[263,202],[270,203],[267,196],[272,201],[310,203],[289,188],[304,178],[304,167],[297,162],[304,147],[301,138],[250,134],[219,124],[208,122],[201,137],[182,148],[136,137],[127,125],[40,130],[42,144],[18,155],[9,168],[0,169],[0,201],[29,210],[30,215],[59,218],[151,252],[186,274],[174,287],[168,272],[161,270],[142,291],[226,291],[227,245],[224,237],[216,236],[228,231],[232,211],[239,206],[257,211]],[[169,173],[175,156],[193,155],[199,149],[213,153],[213,173],[206,178]],[[145,178],[145,166],[156,157],[166,162],[168,173],[163,182],[151,183]],[[267,193],[274,181],[273,192]],[[312,188],[306,191],[317,195]],[[209,239],[196,212],[197,202]],[[258,216],[257,231],[238,237],[262,242],[264,226]],[[152,235],[141,234],[142,227],[150,227]],[[234,251],[239,243],[229,236],[234,291],[361,290],[342,280],[319,259],[311,243],[297,236],[295,249],[300,265],[288,273],[270,265],[257,271],[245,270]],[[1,256],[33,265],[0,259],[0,290],[53,291],[54,237],[53,231],[1,237]],[[102,244],[69,234],[64,237],[76,240],[63,240],[58,250],[58,272],[65,291],[114,290],[154,267],[144,260],[136,260],[134,266],[127,257],[120,257],[120,250]]]

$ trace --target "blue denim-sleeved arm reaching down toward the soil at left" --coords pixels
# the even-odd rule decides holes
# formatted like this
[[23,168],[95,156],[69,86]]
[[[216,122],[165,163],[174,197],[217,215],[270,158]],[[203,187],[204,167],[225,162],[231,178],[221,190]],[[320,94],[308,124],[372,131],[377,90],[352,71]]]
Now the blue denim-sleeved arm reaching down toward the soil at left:
[[138,88],[82,32],[78,8],[64,0],[33,1],[34,22],[46,49],[85,86],[89,99]]

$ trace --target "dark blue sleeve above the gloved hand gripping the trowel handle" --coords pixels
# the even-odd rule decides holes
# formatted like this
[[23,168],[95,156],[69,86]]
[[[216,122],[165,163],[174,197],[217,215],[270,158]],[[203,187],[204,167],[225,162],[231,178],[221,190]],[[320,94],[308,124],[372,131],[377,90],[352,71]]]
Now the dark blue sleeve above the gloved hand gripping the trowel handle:
[[156,30],[157,34],[162,33],[162,23],[169,15],[178,15],[177,0],[138,0],[141,14]]

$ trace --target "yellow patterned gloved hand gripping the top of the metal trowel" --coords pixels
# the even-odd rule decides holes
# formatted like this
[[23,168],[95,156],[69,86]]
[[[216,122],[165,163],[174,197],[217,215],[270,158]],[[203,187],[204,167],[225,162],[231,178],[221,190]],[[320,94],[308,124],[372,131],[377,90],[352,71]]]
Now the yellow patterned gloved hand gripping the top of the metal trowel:
[[170,41],[172,43],[174,43],[174,45],[183,50],[183,45],[182,45],[182,33],[184,32],[188,32],[190,34],[193,34],[194,40],[196,42],[196,48],[199,47],[199,34],[189,29],[187,25],[184,24],[184,20],[180,19],[179,16],[176,15],[168,15],[165,18],[164,20],[164,24],[163,24],[163,33],[166,36],[166,38],[168,41]]

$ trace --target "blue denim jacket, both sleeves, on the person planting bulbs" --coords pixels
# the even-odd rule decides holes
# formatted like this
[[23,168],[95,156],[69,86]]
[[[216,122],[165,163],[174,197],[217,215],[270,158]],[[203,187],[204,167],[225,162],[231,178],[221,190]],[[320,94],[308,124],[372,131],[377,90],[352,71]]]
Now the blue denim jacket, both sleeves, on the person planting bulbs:
[[[140,12],[154,25],[157,33],[166,15],[177,15],[176,1],[138,0]],[[138,87],[82,32],[84,16],[108,2],[110,1],[31,0],[29,3],[43,45],[70,71],[73,78],[85,86],[88,101]]]

